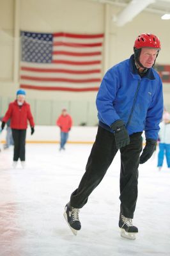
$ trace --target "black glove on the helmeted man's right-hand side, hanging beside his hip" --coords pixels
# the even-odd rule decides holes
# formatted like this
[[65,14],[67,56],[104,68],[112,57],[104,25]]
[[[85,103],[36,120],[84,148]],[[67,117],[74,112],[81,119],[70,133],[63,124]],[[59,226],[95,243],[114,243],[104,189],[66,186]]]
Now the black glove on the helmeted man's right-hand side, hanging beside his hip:
[[145,145],[145,147],[143,149],[143,153],[141,154],[141,157],[140,157],[140,164],[143,164],[146,161],[148,161],[148,159],[150,159],[153,152],[155,151],[156,145],[157,145],[156,140],[153,140],[153,139],[146,140],[146,145]]

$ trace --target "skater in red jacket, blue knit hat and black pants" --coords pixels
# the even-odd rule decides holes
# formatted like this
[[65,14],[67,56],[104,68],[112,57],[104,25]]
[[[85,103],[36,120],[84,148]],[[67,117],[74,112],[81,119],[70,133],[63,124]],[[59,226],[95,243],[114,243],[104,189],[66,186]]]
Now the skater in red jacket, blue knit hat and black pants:
[[2,130],[4,125],[10,119],[10,127],[12,128],[12,136],[14,141],[13,167],[17,166],[17,161],[20,158],[22,167],[25,166],[25,145],[26,145],[26,130],[27,120],[31,126],[31,135],[35,132],[35,123],[29,104],[26,102],[26,92],[24,90],[17,91],[17,99],[11,102],[6,114],[4,115],[1,125]]

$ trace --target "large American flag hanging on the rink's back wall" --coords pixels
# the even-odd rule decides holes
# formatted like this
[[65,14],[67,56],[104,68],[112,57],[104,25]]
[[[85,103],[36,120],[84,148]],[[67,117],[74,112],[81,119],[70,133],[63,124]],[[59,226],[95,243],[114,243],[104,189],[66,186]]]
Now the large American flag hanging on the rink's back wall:
[[103,39],[103,34],[21,31],[20,88],[97,91]]

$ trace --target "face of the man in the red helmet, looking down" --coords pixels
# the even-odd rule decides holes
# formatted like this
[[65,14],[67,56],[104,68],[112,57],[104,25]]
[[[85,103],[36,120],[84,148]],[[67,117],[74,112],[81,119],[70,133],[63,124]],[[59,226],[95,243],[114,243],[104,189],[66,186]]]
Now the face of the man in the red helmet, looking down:
[[139,57],[139,61],[143,65],[143,67],[151,68],[153,63],[157,57],[157,49],[152,48],[142,48],[141,54]]

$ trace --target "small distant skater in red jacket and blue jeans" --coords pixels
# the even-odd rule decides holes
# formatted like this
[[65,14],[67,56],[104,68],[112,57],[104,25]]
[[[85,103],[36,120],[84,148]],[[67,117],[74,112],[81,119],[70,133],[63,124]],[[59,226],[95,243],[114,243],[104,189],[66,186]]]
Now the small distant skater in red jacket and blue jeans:
[[59,116],[56,124],[61,129],[61,141],[59,150],[65,150],[65,144],[68,140],[68,132],[72,127],[72,117],[68,115],[66,109],[62,109],[61,115]]

